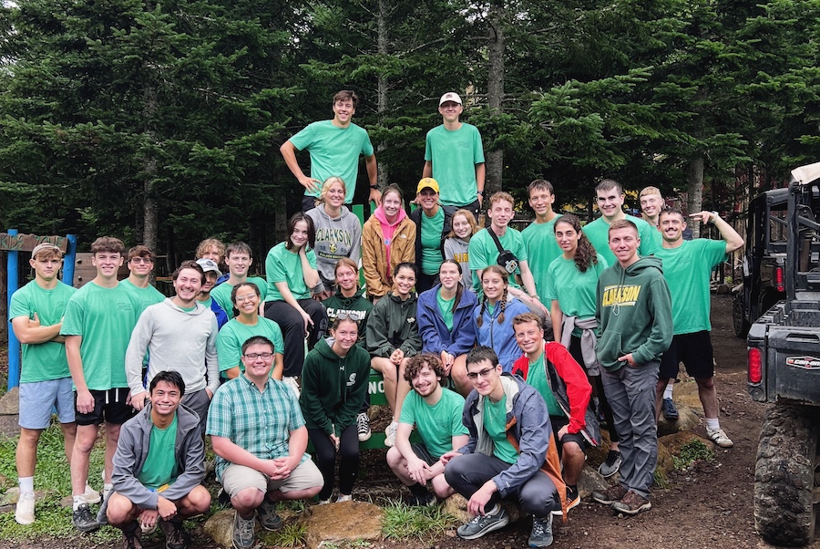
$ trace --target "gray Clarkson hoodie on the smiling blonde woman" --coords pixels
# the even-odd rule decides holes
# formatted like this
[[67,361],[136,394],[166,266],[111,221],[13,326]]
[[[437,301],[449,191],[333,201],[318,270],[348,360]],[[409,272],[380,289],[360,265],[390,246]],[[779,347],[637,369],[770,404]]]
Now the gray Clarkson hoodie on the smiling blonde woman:
[[342,206],[339,217],[333,218],[319,204],[307,212],[316,229],[316,266],[322,278],[323,288],[313,291],[331,291],[336,280],[336,262],[349,257],[355,264],[362,265],[362,223],[346,206]]

